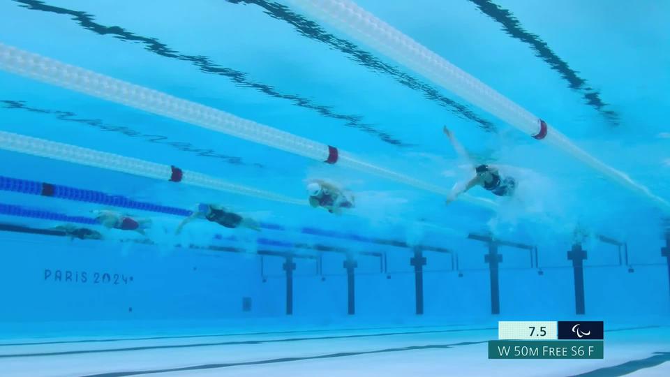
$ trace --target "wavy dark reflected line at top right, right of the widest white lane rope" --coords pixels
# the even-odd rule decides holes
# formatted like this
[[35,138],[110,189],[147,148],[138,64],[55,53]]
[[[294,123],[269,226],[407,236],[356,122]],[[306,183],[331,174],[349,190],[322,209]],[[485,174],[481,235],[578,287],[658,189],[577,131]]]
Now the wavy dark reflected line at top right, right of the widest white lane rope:
[[524,29],[521,22],[514,17],[512,12],[493,3],[491,0],[469,1],[474,3],[482,13],[501,24],[502,30],[504,30],[507,35],[530,45],[530,48],[535,51],[537,57],[544,60],[546,64],[549,64],[553,71],[558,72],[560,77],[563,77],[563,79],[567,81],[569,89],[579,91],[588,105],[595,108],[595,110],[600,112],[606,119],[611,121],[613,125],[618,126],[619,114],[612,110],[606,110],[606,107],[609,104],[602,101],[600,92],[589,87],[586,79],[579,77],[579,73],[570,68],[569,64],[561,59],[556,52],[553,52],[542,38],[539,38],[539,36]]

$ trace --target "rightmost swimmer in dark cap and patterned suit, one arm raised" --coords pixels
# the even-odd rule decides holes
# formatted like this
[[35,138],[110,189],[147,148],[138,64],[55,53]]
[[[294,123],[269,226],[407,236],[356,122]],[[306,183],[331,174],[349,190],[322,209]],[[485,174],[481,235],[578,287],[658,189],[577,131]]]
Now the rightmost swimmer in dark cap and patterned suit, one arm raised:
[[447,127],[442,131],[447,135],[447,138],[449,138],[449,141],[452,143],[454,149],[456,149],[456,152],[461,155],[462,158],[468,160],[472,164],[472,168],[475,169],[475,177],[472,177],[472,179],[465,184],[465,187],[463,187],[463,184],[456,184],[456,186],[454,186],[454,190],[452,190],[452,193],[447,197],[447,204],[453,202],[459,195],[475,186],[482,186],[485,190],[491,191],[491,193],[498,196],[514,195],[514,191],[516,190],[516,179],[512,177],[503,177],[500,175],[500,172],[498,172],[498,168],[494,166],[475,163],[466,149],[463,148],[456,138],[454,138],[452,131],[449,131]]

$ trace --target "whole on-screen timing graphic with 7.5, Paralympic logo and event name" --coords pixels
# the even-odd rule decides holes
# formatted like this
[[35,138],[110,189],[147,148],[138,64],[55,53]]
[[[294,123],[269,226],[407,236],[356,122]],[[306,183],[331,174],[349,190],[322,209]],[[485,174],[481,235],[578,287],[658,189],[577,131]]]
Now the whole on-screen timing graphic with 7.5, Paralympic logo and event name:
[[602,359],[602,321],[500,321],[489,359]]

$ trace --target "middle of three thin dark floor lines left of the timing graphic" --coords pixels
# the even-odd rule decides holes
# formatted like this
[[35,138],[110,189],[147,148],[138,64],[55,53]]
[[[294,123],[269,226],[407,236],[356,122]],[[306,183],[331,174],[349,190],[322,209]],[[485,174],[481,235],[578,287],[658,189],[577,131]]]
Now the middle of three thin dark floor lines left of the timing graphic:
[[135,346],[135,347],[127,347],[127,348],[104,348],[104,349],[96,349],[96,350],[68,350],[68,351],[41,352],[41,353],[14,353],[14,354],[0,355],[0,358],[81,355],[81,354],[87,354],[87,353],[128,352],[128,351],[137,351],[137,350],[158,350],[158,349],[170,349],[170,348],[238,346],[238,345],[241,345],[241,344],[287,343],[287,342],[295,342],[295,341],[318,341],[318,340],[333,340],[333,339],[394,337],[394,336],[401,336],[401,335],[445,334],[445,333],[449,333],[449,332],[470,332],[470,331],[488,331],[488,330],[497,330],[497,327],[481,327],[481,328],[474,328],[474,329],[426,330],[426,331],[412,331],[412,332],[383,332],[383,333],[378,333],[378,334],[350,334],[350,335],[339,335],[339,336],[332,336],[332,337],[300,337],[300,338],[284,338],[284,339],[269,339],[269,340],[219,341],[219,342],[209,342],[209,343],[170,344],[170,345],[164,345],[164,346]]

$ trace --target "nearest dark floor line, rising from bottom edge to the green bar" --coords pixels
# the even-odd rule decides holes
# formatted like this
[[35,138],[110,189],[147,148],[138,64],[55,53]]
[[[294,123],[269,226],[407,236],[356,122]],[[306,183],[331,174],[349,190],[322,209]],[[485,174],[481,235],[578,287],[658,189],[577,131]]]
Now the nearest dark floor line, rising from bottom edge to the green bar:
[[244,367],[249,365],[260,365],[260,364],[275,364],[279,362],[297,362],[304,360],[318,360],[318,359],[331,359],[335,357],[349,357],[349,356],[359,356],[359,355],[373,355],[375,353],[389,353],[389,352],[403,352],[408,350],[431,350],[431,349],[446,349],[453,348],[457,346],[470,346],[472,344],[482,344],[488,341],[463,341],[461,343],[453,344],[431,344],[426,346],[409,346],[401,348],[385,348],[382,350],[373,350],[373,351],[362,351],[362,352],[342,352],[342,353],[328,353],[325,355],[316,355],[316,356],[306,356],[306,357],[282,357],[278,359],[269,359],[269,360],[258,360],[253,362],[231,362],[225,364],[202,364],[202,365],[193,365],[191,367],[181,367],[181,368],[170,368],[170,369],[154,369],[146,371],[120,371],[120,372],[110,372],[102,374],[88,374],[80,377],[126,377],[126,376],[138,376],[142,374],[155,374],[155,373],[168,373],[175,371],[197,371],[202,369],[219,369],[219,368],[228,368],[228,367]]

